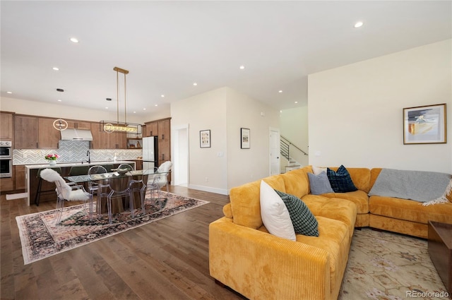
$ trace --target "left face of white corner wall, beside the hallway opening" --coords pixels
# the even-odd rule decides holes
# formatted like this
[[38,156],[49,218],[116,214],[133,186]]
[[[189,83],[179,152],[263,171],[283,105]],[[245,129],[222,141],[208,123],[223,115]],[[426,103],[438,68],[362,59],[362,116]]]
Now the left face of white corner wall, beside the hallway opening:
[[[220,88],[171,104],[171,127],[189,124],[190,188],[227,193],[226,96]],[[210,148],[200,148],[199,131],[207,129]]]

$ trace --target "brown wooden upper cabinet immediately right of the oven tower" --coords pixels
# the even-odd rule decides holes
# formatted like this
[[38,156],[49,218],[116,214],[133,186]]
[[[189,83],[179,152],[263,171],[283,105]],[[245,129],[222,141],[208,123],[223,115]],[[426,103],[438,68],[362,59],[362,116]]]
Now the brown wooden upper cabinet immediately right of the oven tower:
[[38,149],[39,148],[39,118],[36,116],[14,117],[14,148]]

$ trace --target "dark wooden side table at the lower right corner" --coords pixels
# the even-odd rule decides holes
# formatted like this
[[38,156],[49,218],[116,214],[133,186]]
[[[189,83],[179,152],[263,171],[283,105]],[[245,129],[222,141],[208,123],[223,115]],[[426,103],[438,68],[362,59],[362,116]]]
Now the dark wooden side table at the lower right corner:
[[430,258],[452,299],[452,224],[429,221]]

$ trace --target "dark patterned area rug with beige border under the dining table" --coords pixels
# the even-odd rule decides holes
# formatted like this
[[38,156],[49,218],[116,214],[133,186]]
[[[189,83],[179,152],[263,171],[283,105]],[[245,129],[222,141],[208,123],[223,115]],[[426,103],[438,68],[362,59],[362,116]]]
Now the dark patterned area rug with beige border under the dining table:
[[162,200],[158,201],[151,201],[150,194],[146,195],[144,215],[141,208],[138,208],[132,218],[131,212],[127,210],[113,215],[112,224],[109,224],[107,214],[95,214],[93,220],[90,220],[86,212],[87,205],[83,204],[64,208],[59,225],[55,224],[56,210],[16,217],[24,264],[209,203],[165,191],[161,193]]

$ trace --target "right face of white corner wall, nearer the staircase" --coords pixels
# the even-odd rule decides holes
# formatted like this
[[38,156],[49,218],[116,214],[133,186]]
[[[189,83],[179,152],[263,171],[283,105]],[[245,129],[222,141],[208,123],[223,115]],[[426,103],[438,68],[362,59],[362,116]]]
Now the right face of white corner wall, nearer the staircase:
[[[279,128],[277,109],[227,88],[228,189],[270,175],[270,127]],[[240,128],[250,129],[249,149],[240,148]]]

